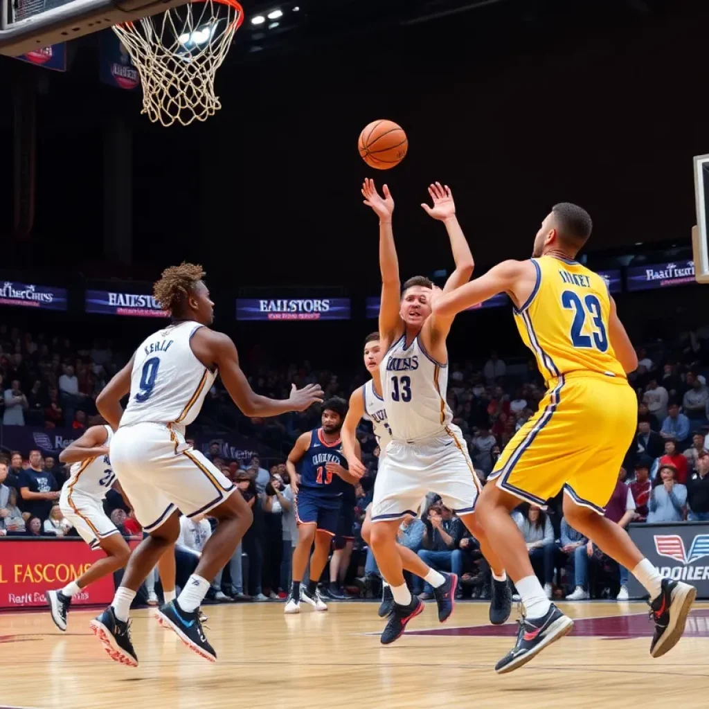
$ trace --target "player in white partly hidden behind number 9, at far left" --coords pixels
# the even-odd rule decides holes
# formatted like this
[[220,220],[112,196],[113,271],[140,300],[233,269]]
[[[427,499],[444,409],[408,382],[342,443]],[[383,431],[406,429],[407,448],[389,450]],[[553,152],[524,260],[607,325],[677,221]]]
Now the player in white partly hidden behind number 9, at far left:
[[72,597],[94,581],[123,569],[130,557],[130,548],[104,512],[106,493],[114,485],[120,491],[108,459],[112,436],[110,426],[91,426],[59,456],[62,463],[72,463],[69,479],[59,498],[62,514],[91,549],[106,552],[106,557],[91,564],[76,581],[45,593],[52,620],[60,630],[67,630],[67,612]]

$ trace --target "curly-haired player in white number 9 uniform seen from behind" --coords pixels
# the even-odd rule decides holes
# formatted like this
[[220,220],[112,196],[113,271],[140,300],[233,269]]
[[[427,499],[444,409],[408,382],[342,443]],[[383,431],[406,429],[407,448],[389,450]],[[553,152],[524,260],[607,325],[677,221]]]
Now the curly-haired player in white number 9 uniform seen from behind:
[[[310,385],[277,401],[257,395],[239,367],[234,343],[207,325],[214,303],[203,283],[201,266],[183,263],[162,273],[153,294],[172,314],[172,323],[143,342],[130,362],[111,379],[96,407],[116,431],[111,463],[148,536],[130,557],[113,603],[91,629],[111,659],[137,666],[128,629],[128,609],[140,584],[162,553],[179,536],[179,515],[209,513],[219,524],[202,550],[199,564],[175,601],[157,611],[201,657],[216,660],[204,636],[199,605],[211,579],[232,557],[253,516],[250,507],[221,471],[186,442],[185,427],[196,418],[206,393],[220,374],[234,403],[247,416],[276,416],[304,411],[322,401]],[[125,412],[121,398],[130,393]]]

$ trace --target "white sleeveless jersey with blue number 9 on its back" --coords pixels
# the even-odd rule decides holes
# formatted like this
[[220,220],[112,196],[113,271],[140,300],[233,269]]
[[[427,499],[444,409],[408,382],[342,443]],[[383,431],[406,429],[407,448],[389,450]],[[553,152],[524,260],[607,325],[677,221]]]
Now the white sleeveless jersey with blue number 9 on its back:
[[191,338],[201,327],[191,320],[169,325],[135,350],[121,428],[150,422],[182,430],[194,421],[216,376],[191,349]]

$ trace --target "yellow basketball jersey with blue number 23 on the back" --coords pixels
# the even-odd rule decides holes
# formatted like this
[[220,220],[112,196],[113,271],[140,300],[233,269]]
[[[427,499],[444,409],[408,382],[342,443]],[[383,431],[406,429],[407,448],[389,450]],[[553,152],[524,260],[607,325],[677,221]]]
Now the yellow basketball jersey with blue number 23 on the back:
[[532,259],[537,284],[515,321],[547,381],[588,371],[625,379],[608,334],[610,296],[603,277],[576,261]]

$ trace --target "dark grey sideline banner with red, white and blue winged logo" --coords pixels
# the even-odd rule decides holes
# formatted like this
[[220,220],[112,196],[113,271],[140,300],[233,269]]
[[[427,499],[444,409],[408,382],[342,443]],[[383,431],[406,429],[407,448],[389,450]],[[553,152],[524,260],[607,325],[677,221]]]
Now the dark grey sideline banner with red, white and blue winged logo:
[[[692,584],[698,598],[709,598],[709,523],[632,524],[630,537],[662,576]],[[632,574],[628,593],[647,596]]]

